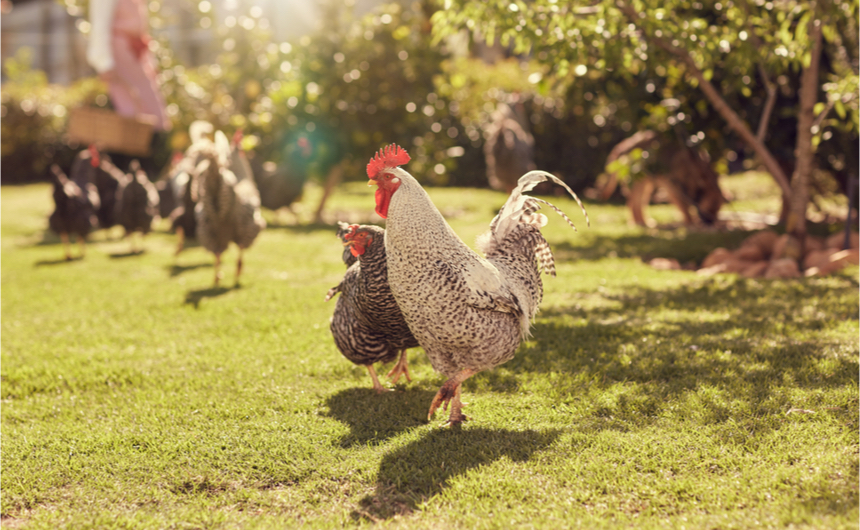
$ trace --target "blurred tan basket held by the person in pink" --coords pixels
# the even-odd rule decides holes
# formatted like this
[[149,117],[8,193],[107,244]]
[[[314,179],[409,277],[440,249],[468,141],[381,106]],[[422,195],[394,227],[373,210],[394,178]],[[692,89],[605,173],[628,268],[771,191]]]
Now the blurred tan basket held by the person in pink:
[[96,144],[104,151],[149,156],[152,122],[143,117],[127,118],[106,109],[78,107],[69,117],[69,141]]

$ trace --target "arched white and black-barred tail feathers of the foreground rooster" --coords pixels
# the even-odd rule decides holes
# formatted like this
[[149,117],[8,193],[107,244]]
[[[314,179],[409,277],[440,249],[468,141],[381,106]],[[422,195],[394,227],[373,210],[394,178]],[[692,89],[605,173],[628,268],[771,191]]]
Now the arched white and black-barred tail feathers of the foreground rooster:
[[588,212],[585,211],[582,201],[579,200],[579,197],[567,186],[567,184],[546,171],[529,171],[520,177],[517,187],[511,192],[510,197],[508,197],[507,202],[502,206],[499,214],[490,223],[490,231],[482,236],[479,241],[479,245],[481,246],[481,250],[484,254],[489,255],[504,246],[505,241],[511,235],[522,231],[523,225],[530,226],[534,228],[534,230],[529,230],[528,233],[530,239],[532,239],[535,257],[540,264],[540,268],[545,273],[555,276],[555,260],[553,259],[552,251],[549,248],[549,244],[547,244],[546,240],[540,234],[540,229],[547,223],[546,216],[538,213],[541,204],[545,204],[555,210],[555,212],[562,216],[562,218],[564,218],[564,220],[567,221],[574,230],[576,230],[576,226],[573,224],[573,221],[570,220],[570,217],[555,205],[543,199],[538,199],[537,197],[524,195],[525,192],[534,189],[535,186],[545,181],[551,181],[567,190],[582,209],[582,213],[585,216],[585,222],[588,226],[591,226],[591,222],[588,219]]

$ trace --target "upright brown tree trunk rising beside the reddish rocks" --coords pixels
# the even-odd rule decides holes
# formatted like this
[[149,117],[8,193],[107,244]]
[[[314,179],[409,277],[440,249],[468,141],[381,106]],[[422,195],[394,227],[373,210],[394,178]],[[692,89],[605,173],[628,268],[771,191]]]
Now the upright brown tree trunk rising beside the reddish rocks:
[[[821,60],[821,22],[813,17],[809,21],[809,38],[812,41],[809,66],[803,69],[800,78],[800,110],[797,116],[797,146],[794,175],[791,178],[791,205],[785,230],[798,245],[803,257],[806,239],[806,209],[809,205],[809,177],[812,174],[815,150],[812,146],[812,126],[815,120],[813,108],[818,100],[818,67]],[[795,256],[791,256],[795,257]]]

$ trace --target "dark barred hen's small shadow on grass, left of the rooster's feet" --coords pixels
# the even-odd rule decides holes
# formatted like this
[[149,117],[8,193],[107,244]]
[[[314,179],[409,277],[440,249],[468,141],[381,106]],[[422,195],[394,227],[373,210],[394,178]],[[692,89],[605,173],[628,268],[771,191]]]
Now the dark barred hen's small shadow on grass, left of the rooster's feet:
[[[368,377],[368,382],[370,378]],[[348,388],[329,397],[327,416],[345,423],[350,433],[337,443],[351,447],[387,440],[427,423],[427,410],[436,392],[416,388],[377,394],[372,388]]]

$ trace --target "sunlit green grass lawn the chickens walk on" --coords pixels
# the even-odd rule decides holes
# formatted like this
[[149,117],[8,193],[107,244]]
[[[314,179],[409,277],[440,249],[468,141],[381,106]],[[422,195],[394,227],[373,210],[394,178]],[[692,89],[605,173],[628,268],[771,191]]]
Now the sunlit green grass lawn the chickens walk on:
[[[329,211],[369,219],[372,192]],[[430,193],[467,242],[505,200]],[[213,289],[212,256],[174,258],[164,224],[141,255],[98,232],[65,262],[49,186],[3,187],[3,528],[857,528],[857,267],[655,271],[643,256],[748,234],[645,231],[600,204],[587,228],[553,202],[579,231],[548,213],[534,337],[464,384],[472,420],[448,430],[426,422],[444,378],[420,349],[376,395],[335,348],[332,227],[267,212],[241,287],[232,249]]]

